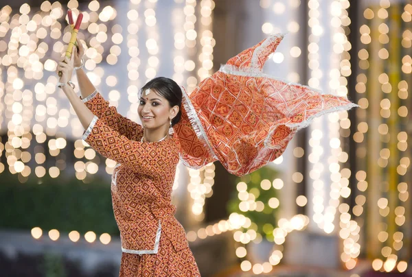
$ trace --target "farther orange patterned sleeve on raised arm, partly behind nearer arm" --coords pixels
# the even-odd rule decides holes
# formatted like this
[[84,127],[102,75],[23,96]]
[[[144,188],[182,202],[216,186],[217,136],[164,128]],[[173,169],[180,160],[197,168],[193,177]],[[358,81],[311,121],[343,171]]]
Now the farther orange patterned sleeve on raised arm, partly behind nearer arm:
[[[82,98],[80,97],[80,99]],[[133,141],[139,141],[143,136],[142,126],[120,115],[116,107],[108,106],[108,101],[98,91],[82,99],[82,101],[93,112],[93,115],[106,123],[111,130],[119,132],[119,134]]]

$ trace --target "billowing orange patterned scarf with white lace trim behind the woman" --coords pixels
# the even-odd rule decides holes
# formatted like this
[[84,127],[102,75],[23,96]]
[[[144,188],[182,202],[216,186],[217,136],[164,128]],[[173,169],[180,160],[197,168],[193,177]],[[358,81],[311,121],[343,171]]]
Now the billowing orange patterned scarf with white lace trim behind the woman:
[[242,51],[189,96],[182,88],[184,109],[175,136],[187,167],[219,160],[243,176],[282,155],[297,130],[315,117],[357,106],[264,74],[264,63],[282,38],[270,36]]

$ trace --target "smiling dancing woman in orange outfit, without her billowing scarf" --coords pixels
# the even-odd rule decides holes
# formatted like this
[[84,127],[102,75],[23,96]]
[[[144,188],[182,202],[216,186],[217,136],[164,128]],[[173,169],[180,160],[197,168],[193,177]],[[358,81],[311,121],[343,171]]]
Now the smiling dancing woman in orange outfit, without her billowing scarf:
[[[117,162],[111,195],[122,240],[119,276],[200,276],[185,230],[174,217],[172,185],[179,141],[169,134],[181,116],[181,88],[159,77],[141,88],[141,125],[108,106],[82,70],[79,40],[71,58],[58,63],[60,87],[86,130],[84,141]],[[76,67],[81,99],[71,87]]]

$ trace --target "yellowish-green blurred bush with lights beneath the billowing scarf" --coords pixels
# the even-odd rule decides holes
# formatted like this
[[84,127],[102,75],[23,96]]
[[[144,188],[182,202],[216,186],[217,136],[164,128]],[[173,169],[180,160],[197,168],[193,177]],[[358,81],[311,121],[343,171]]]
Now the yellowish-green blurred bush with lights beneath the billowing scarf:
[[[256,226],[255,228],[252,228],[259,234],[262,234],[262,237],[266,237],[268,241],[273,241],[273,228],[276,228],[277,226],[277,208],[271,208],[268,202],[271,198],[277,197],[277,191],[273,188],[273,186],[271,186],[268,190],[264,190],[260,186],[260,183],[265,179],[271,181],[272,183],[276,176],[277,171],[266,166],[248,174],[247,176],[236,178],[235,184],[245,182],[247,184],[247,192],[258,196],[255,197],[255,202],[263,202],[264,210],[260,212],[256,210],[247,210],[246,212],[243,212],[240,210],[239,204],[242,201],[238,197],[239,191],[237,189],[233,190],[233,195],[227,205],[229,213],[238,213],[251,219],[251,221],[256,224],[257,230]],[[246,231],[246,229],[243,231]]]

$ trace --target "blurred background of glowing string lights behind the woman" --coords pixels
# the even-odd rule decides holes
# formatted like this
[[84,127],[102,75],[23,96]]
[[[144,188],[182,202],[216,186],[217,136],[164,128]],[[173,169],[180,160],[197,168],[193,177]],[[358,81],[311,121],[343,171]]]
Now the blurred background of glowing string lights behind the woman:
[[148,80],[193,91],[278,32],[266,73],[360,106],[242,178],[179,163],[176,218],[202,276],[411,276],[409,0],[2,0],[0,276],[118,275],[115,162],[81,140],[56,88],[68,8],[84,14],[87,75],[134,121]]

